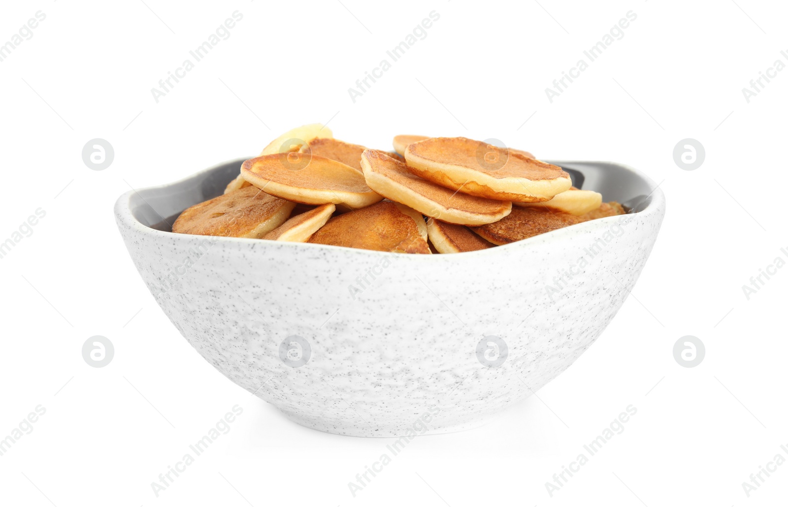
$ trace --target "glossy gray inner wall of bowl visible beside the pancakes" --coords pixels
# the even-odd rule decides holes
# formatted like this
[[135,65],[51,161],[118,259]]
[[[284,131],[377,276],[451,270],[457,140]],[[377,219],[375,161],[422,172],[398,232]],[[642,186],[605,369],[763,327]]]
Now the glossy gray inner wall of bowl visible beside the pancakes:
[[[238,176],[246,158],[225,162],[172,185],[144,188],[132,194],[132,215],[144,226],[171,231],[181,211],[220,196],[227,184]],[[572,185],[600,192],[605,201],[618,201],[630,213],[642,211],[651,203],[655,186],[641,174],[612,162],[545,161],[566,170]]]

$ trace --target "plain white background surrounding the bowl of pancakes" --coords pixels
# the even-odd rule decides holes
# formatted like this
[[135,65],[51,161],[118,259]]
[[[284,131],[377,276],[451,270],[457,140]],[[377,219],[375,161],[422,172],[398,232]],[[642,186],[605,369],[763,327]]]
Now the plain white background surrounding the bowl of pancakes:
[[[0,241],[46,211],[2,270],[0,438],[46,408],[0,457],[2,505],[778,505],[788,445],[788,59],[779,2],[4,2],[0,44],[46,13],[0,62],[5,192]],[[156,103],[151,88],[232,12],[243,20]],[[353,103],[348,88],[432,10],[440,20]],[[637,20],[552,103],[545,88],[628,11]],[[587,58],[586,58],[587,60]],[[526,121],[527,120],[527,121]],[[539,158],[613,160],[667,195],[632,296],[593,347],[537,397],[474,431],[417,438],[355,498],[348,482],[385,440],[323,434],[206,363],[157,308],[112,213],[117,196],[255,155],[325,123],[370,147],[400,133],[495,137]],[[87,140],[113,164],[84,165]],[[680,169],[694,138],[706,158]],[[84,341],[115,356],[87,365]],[[673,357],[694,335],[706,356]],[[151,482],[233,405],[243,415],[158,498]],[[627,405],[637,415],[574,477],[569,464]],[[765,476],[764,476],[765,477]]]

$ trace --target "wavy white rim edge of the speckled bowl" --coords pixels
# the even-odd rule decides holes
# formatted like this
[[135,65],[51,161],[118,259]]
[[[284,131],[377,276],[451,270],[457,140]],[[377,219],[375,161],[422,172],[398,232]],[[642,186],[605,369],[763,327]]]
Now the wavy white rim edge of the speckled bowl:
[[[174,187],[176,185],[179,185],[179,184],[182,184],[182,183],[186,183],[188,181],[199,181],[207,173],[211,173],[211,172],[219,169],[220,167],[227,166],[229,163],[243,162],[243,160],[246,160],[246,159],[247,158],[239,158],[239,159],[227,160],[225,162],[219,162],[217,164],[214,164],[214,166],[207,167],[206,169],[199,170],[196,173],[192,173],[189,176],[182,177],[179,180],[171,181],[169,183],[165,183],[165,184],[162,184],[162,185],[151,185],[151,186],[143,187],[143,188],[133,188],[132,187],[130,190],[128,190],[128,191],[124,192],[123,194],[121,194],[121,196],[119,196],[117,198],[117,201],[115,202],[113,210],[114,210],[114,214],[115,214],[115,218],[116,218],[117,224],[119,226],[122,224],[122,225],[127,226],[127,227],[129,227],[131,229],[134,229],[138,233],[147,234],[147,235],[152,236],[152,237],[162,237],[162,238],[163,237],[169,237],[169,238],[182,237],[183,239],[190,239],[190,240],[193,240],[193,239],[199,238],[199,237],[203,237],[203,238],[210,238],[210,240],[214,241],[214,244],[216,242],[219,242],[221,244],[228,244],[228,245],[229,244],[236,244],[236,245],[247,244],[247,245],[251,246],[251,245],[255,245],[255,244],[266,244],[266,243],[269,243],[269,244],[277,244],[277,247],[279,247],[279,248],[287,248],[287,247],[290,247],[290,248],[316,248],[318,250],[327,248],[327,249],[329,249],[329,251],[335,250],[335,251],[342,251],[342,252],[354,252],[355,255],[377,256],[379,258],[389,258],[389,259],[392,259],[392,258],[396,258],[396,259],[403,259],[403,258],[407,258],[407,259],[412,259],[412,258],[432,259],[433,257],[442,258],[444,255],[447,255],[447,254],[402,255],[402,254],[397,253],[397,252],[381,252],[381,251],[377,251],[377,250],[366,250],[366,249],[363,249],[363,248],[342,247],[342,246],[336,246],[336,245],[333,245],[333,244],[316,244],[316,243],[302,243],[302,242],[289,242],[289,241],[277,241],[277,240],[263,240],[263,239],[257,239],[257,238],[247,238],[247,237],[224,237],[224,236],[203,236],[203,235],[199,235],[199,234],[179,234],[179,233],[173,233],[173,232],[163,231],[163,230],[159,230],[159,229],[153,229],[152,227],[146,226],[142,222],[139,222],[139,220],[132,213],[132,210],[131,210],[131,207],[130,207],[130,203],[131,203],[132,196],[134,196],[135,194],[137,196],[139,196],[140,199],[143,199],[143,201],[145,201],[145,198],[140,194],[140,192],[150,192],[150,191],[154,191],[154,190],[171,188],[171,187]],[[450,254],[450,255],[463,255],[463,258],[467,258],[467,257],[470,257],[470,256],[475,256],[475,255],[506,254],[507,252],[511,252],[515,248],[524,248],[526,245],[533,243],[535,240],[541,240],[541,241],[545,241],[545,240],[550,240],[550,241],[559,240],[559,239],[562,239],[563,237],[567,237],[569,235],[574,235],[574,231],[578,231],[578,230],[581,230],[581,229],[600,228],[600,226],[602,226],[602,225],[608,226],[608,224],[609,224],[609,226],[612,226],[612,225],[614,225],[617,222],[624,222],[624,221],[631,220],[635,216],[637,216],[639,218],[643,218],[643,219],[654,218],[655,216],[660,216],[661,213],[664,210],[664,207],[665,207],[665,196],[664,196],[664,192],[660,188],[660,186],[662,184],[660,183],[659,185],[655,185],[654,181],[650,177],[648,177],[645,173],[642,173],[641,171],[635,169],[632,166],[628,166],[628,165],[622,164],[620,162],[596,161],[596,160],[591,161],[591,160],[555,160],[555,159],[550,159],[550,160],[545,160],[545,162],[552,163],[552,164],[554,164],[556,166],[571,166],[573,164],[574,165],[577,165],[577,164],[604,164],[604,165],[618,166],[619,168],[621,168],[623,170],[628,170],[631,173],[634,173],[635,175],[637,175],[637,177],[640,177],[642,180],[644,180],[646,183],[648,183],[649,187],[652,188],[652,191],[649,194],[649,196],[647,196],[647,198],[648,197],[652,197],[652,199],[649,201],[649,203],[646,205],[645,208],[643,208],[641,211],[636,211],[634,213],[620,214],[620,215],[615,215],[615,216],[612,216],[612,217],[597,218],[595,220],[590,220],[589,222],[582,222],[582,223],[579,223],[579,224],[575,224],[574,226],[563,227],[561,229],[552,230],[552,231],[550,231],[548,233],[538,234],[537,236],[529,237],[529,238],[526,238],[525,240],[515,241],[515,242],[510,243],[510,244],[498,245],[495,248],[485,248],[485,249],[482,249],[482,250],[475,250],[473,252],[459,252],[459,253]],[[147,201],[145,201],[145,202],[147,202]],[[151,209],[153,209],[153,207],[151,207]],[[154,210],[154,212],[155,212],[155,210]],[[158,214],[158,212],[156,212],[156,213]],[[159,215],[159,216],[161,217],[161,215]],[[164,219],[164,217],[162,217],[162,219]],[[426,262],[430,262],[430,261],[426,261]]]

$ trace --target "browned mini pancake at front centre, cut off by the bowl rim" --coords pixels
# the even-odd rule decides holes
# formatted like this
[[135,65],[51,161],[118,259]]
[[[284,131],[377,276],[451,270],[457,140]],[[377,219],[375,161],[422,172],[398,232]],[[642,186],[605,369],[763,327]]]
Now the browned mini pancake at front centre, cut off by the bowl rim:
[[391,201],[337,215],[308,242],[381,252],[432,253],[422,215]]

